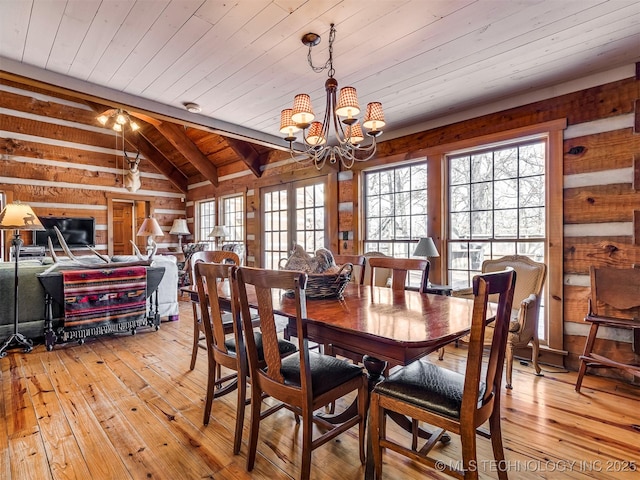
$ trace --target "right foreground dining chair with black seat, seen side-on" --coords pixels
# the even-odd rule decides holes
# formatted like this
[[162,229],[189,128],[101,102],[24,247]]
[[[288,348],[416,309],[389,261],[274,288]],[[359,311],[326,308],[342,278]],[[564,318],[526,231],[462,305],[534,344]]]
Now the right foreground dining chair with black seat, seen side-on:
[[[471,338],[465,373],[457,373],[417,360],[402,367],[374,388],[371,395],[370,434],[376,478],[382,478],[382,449],[387,448],[412,460],[457,478],[478,478],[476,430],[489,420],[491,443],[498,477],[507,479],[500,427],[500,391],[509,317],[516,273],[513,270],[477,275],[473,279]],[[482,353],[489,295],[498,295],[491,352],[482,376]],[[408,448],[386,436],[386,414],[396,412],[436,427],[424,446]],[[428,456],[446,432],[460,435],[462,470]]]

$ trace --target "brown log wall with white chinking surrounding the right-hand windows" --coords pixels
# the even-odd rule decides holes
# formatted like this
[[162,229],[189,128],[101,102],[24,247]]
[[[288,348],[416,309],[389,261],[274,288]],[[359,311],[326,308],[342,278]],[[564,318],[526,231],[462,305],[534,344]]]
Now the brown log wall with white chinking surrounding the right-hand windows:
[[[566,353],[565,366],[576,370],[588,332],[582,319],[587,312],[590,291],[589,266],[628,267],[640,263],[640,81],[637,75],[382,142],[378,159],[363,168],[429,157],[430,148],[442,144],[558,119],[567,122],[563,141],[562,348]],[[433,180],[431,175],[436,172],[439,177],[440,168],[436,163],[439,160],[429,157],[427,161],[429,178]],[[227,181],[221,178],[217,192],[208,182],[190,185],[189,216],[193,216],[197,200],[216,193],[246,193],[248,264],[253,265],[260,250],[260,187],[287,183],[305,175],[329,173],[289,164],[268,168],[260,178],[253,175],[240,175]],[[329,192],[332,196],[329,201],[337,208],[337,212],[329,212],[335,233],[330,243],[334,251],[355,253],[360,250],[360,172],[340,172],[337,179],[337,187]],[[432,206],[440,205],[440,197],[440,190],[430,186],[430,211]],[[341,232],[352,234],[346,243],[342,241]],[[630,331],[603,330],[597,342],[600,351],[626,363],[640,362],[640,355],[632,351]],[[620,372],[607,370],[602,374],[619,376]]]

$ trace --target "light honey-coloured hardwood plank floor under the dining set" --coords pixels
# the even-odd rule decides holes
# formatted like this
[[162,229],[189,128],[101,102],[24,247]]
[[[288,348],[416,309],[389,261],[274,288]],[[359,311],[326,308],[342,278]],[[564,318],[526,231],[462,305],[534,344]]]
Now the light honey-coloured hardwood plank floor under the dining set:
[[[203,426],[206,359],[201,351],[189,371],[191,338],[183,301],[181,320],[158,332],[0,359],[0,479],[298,478],[301,440],[290,412],[263,422],[251,473],[248,419],[241,454],[231,453],[235,394],[215,399]],[[448,347],[441,364],[462,369],[465,354]],[[588,375],[578,394],[574,372],[543,366],[536,377],[530,366],[515,368],[502,398],[511,479],[640,478],[631,471],[640,464],[640,388]],[[457,437],[437,448],[444,462],[459,460]],[[314,451],[311,478],[363,478],[357,458],[354,428]],[[497,478],[489,440],[479,439],[478,458],[480,477]],[[384,461],[387,479],[445,478],[392,452]]]

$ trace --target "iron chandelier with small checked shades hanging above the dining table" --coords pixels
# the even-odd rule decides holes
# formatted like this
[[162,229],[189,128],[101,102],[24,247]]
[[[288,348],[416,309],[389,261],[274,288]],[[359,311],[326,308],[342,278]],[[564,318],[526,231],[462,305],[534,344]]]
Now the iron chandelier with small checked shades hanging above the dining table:
[[[334,24],[329,31],[329,59],[320,67],[313,65],[311,49],[320,43],[320,35],[307,33],[302,37],[302,43],[309,47],[307,61],[314,72],[322,72],[328,69],[329,78],[325,82],[327,102],[323,122],[313,121],[315,115],[311,106],[311,97],[306,93],[300,93],[293,100],[293,108],[287,108],[280,113],[280,133],[286,135],[289,142],[291,157],[296,161],[312,161],[318,170],[321,170],[326,161],[335,164],[338,159],[344,168],[351,168],[353,164],[371,159],[376,153],[376,137],[382,133],[385,126],[384,113],[380,102],[371,102],[367,105],[362,126],[367,129],[367,135],[371,137],[371,144],[363,146],[364,141],[362,126],[357,116],[360,114],[358,95],[354,87],[343,87],[337,96],[338,81],[333,77],[333,42],[336,36]],[[337,101],[336,101],[337,100]],[[340,117],[340,118],[338,118]],[[336,142],[329,136],[333,125],[333,134]],[[295,133],[302,130],[305,150],[302,154],[306,157],[300,159],[299,151],[294,150],[293,142]]]

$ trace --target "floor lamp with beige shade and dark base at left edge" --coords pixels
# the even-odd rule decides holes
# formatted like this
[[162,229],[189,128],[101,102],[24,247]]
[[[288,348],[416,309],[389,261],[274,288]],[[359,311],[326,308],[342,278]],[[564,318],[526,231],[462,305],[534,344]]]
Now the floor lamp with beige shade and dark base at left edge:
[[22,246],[20,230],[44,229],[31,207],[24,203],[10,203],[0,213],[0,230],[14,230],[11,245],[13,246],[13,255],[16,263],[13,290],[13,334],[0,345],[0,358],[6,356],[7,350],[13,347],[23,347],[25,353],[33,349],[33,342],[18,333],[18,261],[20,259],[20,247]]

